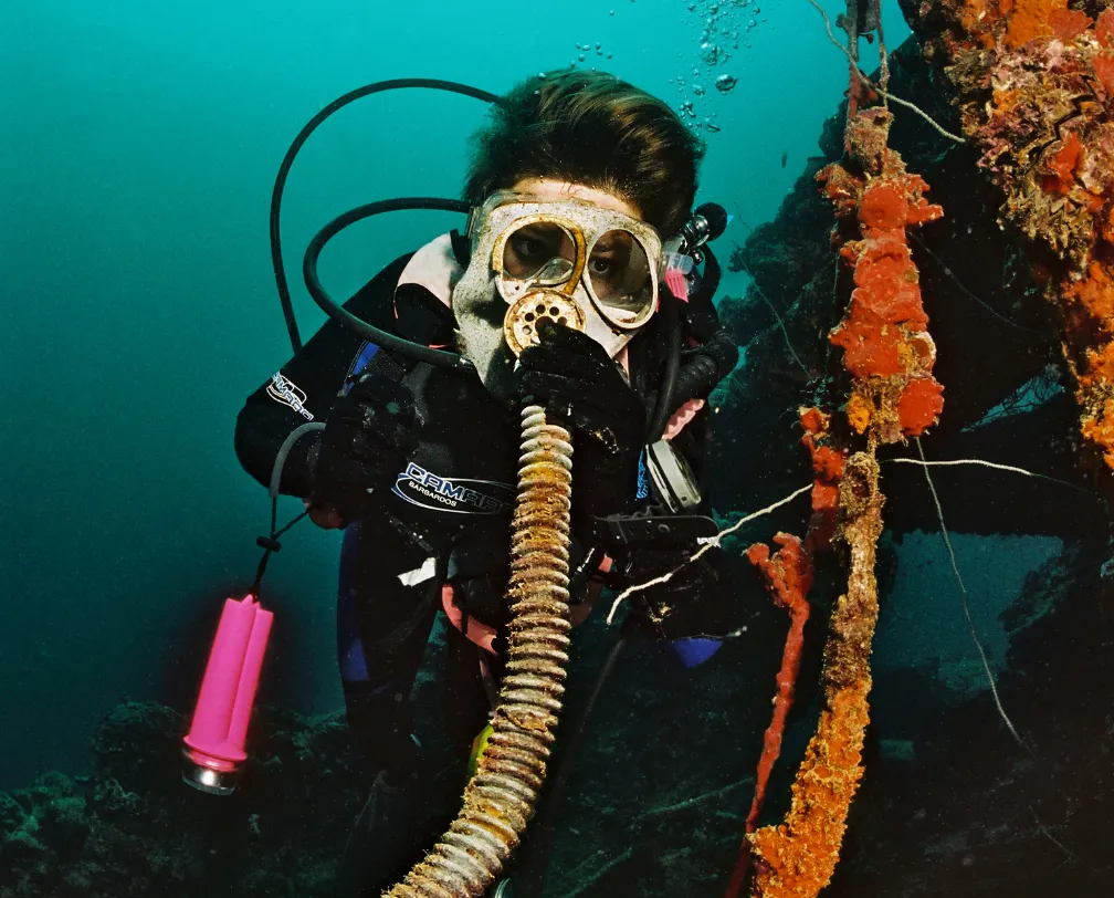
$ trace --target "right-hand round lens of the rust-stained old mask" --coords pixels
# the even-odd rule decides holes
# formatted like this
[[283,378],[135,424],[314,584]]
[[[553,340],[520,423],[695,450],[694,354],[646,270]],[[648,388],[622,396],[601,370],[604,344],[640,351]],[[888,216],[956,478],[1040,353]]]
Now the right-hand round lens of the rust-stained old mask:
[[585,270],[600,313],[619,326],[643,323],[654,308],[646,250],[629,231],[608,231],[588,254]]

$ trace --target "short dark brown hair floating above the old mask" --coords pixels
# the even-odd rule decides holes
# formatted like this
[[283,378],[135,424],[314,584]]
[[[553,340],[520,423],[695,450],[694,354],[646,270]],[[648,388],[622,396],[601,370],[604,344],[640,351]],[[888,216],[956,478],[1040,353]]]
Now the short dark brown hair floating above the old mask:
[[704,144],[665,103],[613,75],[560,71],[517,85],[472,137],[465,199],[525,177],[584,184],[632,203],[662,236],[688,217]]

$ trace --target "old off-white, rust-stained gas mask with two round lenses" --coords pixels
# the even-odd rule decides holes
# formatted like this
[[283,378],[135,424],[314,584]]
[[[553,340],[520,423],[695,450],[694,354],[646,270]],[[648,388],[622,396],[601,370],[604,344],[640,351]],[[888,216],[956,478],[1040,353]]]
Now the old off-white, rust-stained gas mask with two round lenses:
[[657,306],[662,238],[620,212],[502,191],[472,209],[468,237],[452,308],[486,383],[502,345],[517,357],[537,342],[539,319],[587,333],[614,358]]

